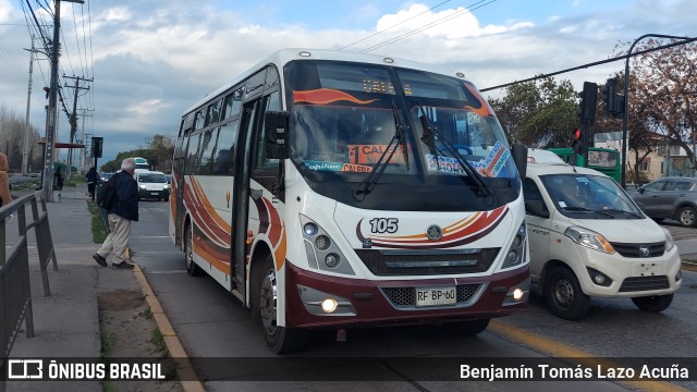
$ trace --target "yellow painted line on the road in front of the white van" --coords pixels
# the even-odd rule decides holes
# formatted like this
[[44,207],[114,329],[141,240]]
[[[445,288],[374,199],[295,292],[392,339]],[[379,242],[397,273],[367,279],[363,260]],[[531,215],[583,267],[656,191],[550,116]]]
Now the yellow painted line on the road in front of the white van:
[[[602,366],[607,368],[623,367],[621,364],[613,363],[607,358],[599,358],[590,353],[574,348],[566,344],[557,342],[554,340],[541,336],[537,333],[525,331],[521,328],[514,327],[505,321],[493,319],[489,323],[487,329],[489,332],[493,332],[500,336],[508,338],[524,345],[527,345],[536,351],[547,354],[557,358],[567,358],[574,360],[578,365],[586,367]],[[687,392],[689,390],[667,382],[667,381],[613,381],[622,384],[629,385],[639,391],[646,392]]]

